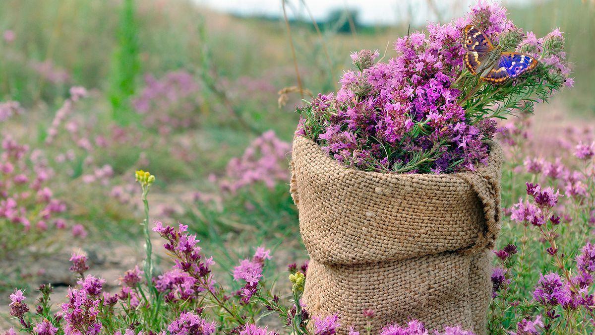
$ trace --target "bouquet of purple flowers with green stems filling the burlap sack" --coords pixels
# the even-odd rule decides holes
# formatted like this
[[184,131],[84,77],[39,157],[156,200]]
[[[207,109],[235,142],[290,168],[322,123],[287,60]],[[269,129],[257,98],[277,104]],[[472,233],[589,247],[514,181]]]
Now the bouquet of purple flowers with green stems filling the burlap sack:
[[[559,29],[537,39],[480,2],[450,23],[428,24],[394,43],[398,55],[351,55],[356,70],[339,91],[318,94],[296,134],[352,168],[390,173],[452,173],[487,162],[496,119],[533,111],[572,86]],[[384,57],[383,57],[384,58]]]

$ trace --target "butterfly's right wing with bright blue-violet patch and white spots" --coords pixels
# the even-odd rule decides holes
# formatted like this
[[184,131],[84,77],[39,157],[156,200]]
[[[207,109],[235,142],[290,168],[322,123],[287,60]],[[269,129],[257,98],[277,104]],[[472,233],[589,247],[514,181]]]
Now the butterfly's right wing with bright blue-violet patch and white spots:
[[489,83],[504,83],[509,78],[516,78],[537,67],[537,60],[521,52],[502,52],[500,63],[482,79]]

